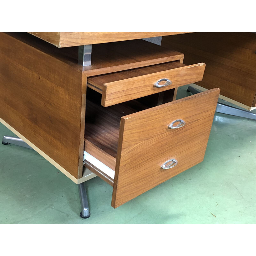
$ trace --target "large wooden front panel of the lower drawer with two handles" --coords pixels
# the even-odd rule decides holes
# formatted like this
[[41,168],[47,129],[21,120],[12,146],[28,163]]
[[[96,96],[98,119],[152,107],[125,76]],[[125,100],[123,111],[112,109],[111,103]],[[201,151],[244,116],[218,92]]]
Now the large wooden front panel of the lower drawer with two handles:
[[[215,88],[122,117],[112,207],[203,161],[219,92]],[[179,128],[168,127],[179,119],[185,121],[173,124]]]

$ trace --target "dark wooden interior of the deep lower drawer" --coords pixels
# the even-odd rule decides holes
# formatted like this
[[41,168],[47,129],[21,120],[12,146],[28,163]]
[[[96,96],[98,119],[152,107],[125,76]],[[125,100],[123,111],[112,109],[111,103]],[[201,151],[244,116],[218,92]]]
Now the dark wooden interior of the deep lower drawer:
[[85,108],[85,142],[91,142],[116,158],[121,117],[152,107],[151,104],[141,103],[145,103],[146,100],[147,98],[143,97],[105,108],[99,104],[100,94],[88,90]]

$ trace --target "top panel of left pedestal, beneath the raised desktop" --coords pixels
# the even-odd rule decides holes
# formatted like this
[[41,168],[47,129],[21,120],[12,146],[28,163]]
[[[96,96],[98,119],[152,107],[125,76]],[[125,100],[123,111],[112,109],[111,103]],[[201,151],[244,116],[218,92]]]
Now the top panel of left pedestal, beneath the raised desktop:
[[92,45],[92,65],[78,65],[78,46],[57,48],[28,33],[8,33],[38,50],[84,71],[86,76],[96,76],[125,69],[139,68],[183,58],[183,53],[152,44],[145,40],[129,40]]

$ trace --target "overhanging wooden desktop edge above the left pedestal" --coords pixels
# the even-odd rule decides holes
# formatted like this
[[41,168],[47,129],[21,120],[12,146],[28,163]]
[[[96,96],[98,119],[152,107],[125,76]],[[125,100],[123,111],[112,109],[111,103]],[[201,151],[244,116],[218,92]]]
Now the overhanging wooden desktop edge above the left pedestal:
[[188,32],[28,32],[57,47],[140,39],[155,36],[176,35]]

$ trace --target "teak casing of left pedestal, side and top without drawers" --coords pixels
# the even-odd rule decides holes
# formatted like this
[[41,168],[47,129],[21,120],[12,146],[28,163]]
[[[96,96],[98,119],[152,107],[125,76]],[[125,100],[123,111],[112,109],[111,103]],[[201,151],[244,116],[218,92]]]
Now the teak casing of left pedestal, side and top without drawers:
[[144,40],[119,43],[93,45],[93,64],[83,68],[77,47],[58,49],[27,33],[1,33],[1,118],[75,182],[83,177],[87,77],[184,56]]

